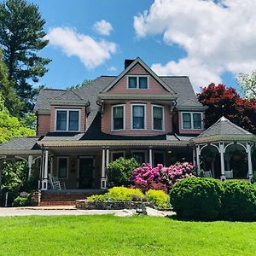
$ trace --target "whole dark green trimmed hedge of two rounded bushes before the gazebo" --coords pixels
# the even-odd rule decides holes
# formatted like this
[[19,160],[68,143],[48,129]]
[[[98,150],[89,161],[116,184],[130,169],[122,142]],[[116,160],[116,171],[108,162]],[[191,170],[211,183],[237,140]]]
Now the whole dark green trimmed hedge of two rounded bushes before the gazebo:
[[170,202],[181,218],[256,221],[256,185],[245,181],[185,178],[173,186]]

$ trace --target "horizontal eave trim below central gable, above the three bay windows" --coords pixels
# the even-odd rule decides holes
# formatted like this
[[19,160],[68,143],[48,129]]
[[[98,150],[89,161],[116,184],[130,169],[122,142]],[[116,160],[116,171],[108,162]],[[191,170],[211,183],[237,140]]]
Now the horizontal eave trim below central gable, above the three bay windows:
[[177,96],[173,95],[149,95],[149,94],[110,94],[102,92],[99,94],[102,100],[176,100]]

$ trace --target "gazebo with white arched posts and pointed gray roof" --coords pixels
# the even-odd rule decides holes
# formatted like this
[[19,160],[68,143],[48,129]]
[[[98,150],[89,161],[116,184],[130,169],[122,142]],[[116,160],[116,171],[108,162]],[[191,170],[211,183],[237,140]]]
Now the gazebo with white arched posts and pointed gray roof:
[[253,177],[256,136],[224,117],[191,140],[197,174],[205,177]]

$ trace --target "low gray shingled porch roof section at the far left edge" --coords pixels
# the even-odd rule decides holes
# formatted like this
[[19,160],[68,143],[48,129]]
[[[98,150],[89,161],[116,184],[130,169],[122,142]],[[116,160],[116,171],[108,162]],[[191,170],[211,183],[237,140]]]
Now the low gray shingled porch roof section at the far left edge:
[[40,137],[15,137],[7,143],[0,144],[1,150],[32,150],[39,149],[36,143]]

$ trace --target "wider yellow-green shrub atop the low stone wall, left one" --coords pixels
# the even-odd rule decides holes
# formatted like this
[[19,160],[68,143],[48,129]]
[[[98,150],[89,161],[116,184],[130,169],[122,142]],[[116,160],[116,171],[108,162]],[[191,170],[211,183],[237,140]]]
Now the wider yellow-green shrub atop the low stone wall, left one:
[[88,201],[143,201],[144,195],[140,189],[113,187],[104,195],[91,195]]

